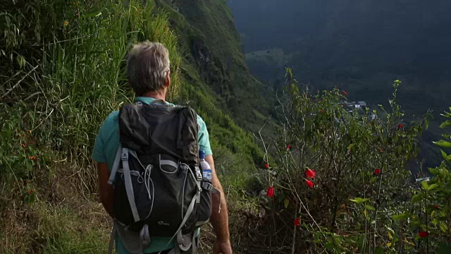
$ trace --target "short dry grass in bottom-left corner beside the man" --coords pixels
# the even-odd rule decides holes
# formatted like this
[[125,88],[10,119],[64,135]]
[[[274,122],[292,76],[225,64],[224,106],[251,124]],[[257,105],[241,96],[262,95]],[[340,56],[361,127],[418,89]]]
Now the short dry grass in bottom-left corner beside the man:
[[[97,215],[103,211],[93,202],[80,207],[85,210],[37,201],[25,210],[16,208],[5,217],[9,221],[0,234],[2,253],[104,252],[109,243],[109,220]],[[80,215],[82,212],[86,215]]]

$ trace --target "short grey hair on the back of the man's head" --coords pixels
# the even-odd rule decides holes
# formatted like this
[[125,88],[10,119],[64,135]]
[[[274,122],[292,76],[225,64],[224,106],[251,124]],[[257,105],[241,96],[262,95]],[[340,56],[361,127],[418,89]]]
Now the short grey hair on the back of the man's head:
[[127,75],[137,95],[159,91],[166,83],[170,70],[169,52],[159,42],[140,42],[128,53]]

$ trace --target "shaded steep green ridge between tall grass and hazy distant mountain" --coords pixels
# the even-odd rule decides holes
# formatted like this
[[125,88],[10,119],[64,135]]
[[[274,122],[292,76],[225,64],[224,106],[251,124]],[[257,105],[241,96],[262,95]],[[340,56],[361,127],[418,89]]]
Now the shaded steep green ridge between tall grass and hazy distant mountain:
[[[159,0],[180,37],[185,60],[213,90],[217,104],[242,127],[258,131],[274,114],[271,91],[249,73],[233,15],[224,0]],[[192,70],[185,69],[190,78]],[[195,80],[195,78],[194,78]],[[264,103],[262,103],[264,102]]]

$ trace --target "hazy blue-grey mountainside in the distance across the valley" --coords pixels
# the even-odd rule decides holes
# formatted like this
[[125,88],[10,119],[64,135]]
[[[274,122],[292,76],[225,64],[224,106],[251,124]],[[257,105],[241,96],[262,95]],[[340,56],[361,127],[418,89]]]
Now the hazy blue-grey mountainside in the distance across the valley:
[[[433,111],[420,159],[440,162],[440,113],[451,104],[451,1],[229,0],[252,74],[275,90],[285,67],[315,90],[338,86],[350,101],[388,104],[393,80],[406,121]],[[414,116],[415,115],[415,116]],[[412,116],[412,117],[411,117]]]

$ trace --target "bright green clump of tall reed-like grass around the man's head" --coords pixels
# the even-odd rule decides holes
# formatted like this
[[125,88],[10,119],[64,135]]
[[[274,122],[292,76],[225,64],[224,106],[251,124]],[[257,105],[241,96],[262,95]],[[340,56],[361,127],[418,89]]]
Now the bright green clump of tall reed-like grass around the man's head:
[[[173,66],[180,63],[177,40],[166,16],[156,12],[152,4],[142,6],[138,2],[130,1],[128,6],[113,1],[99,4],[74,20],[73,28],[66,28],[75,30],[68,32],[66,40],[47,46],[44,64],[51,73],[42,90],[52,96],[39,111],[49,116],[49,109],[56,110],[56,126],[47,122],[46,129],[62,130],[61,135],[47,141],[55,144],[61,138],[78,144],[68,147],[75,158],[89,155],[85,148],[92,147],[98,123],[118,109],[120,102],[130,99],[124,67],[132,44],[142,40],[163,42],[170,50]],[[175,72],[169,99],[177,95],[178,77]],[[56,107],[49,107],[52,104]]]

